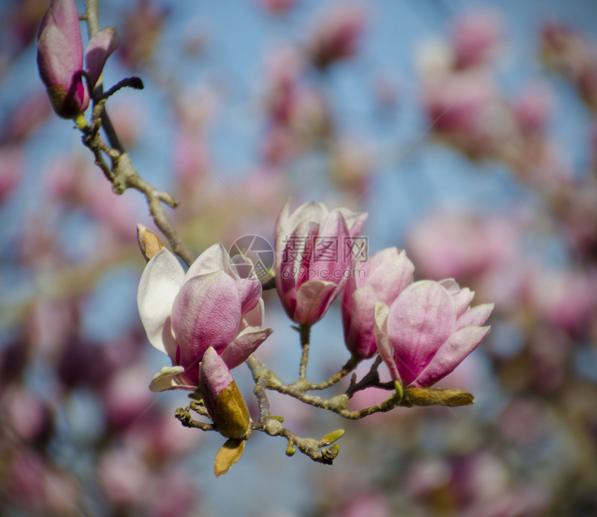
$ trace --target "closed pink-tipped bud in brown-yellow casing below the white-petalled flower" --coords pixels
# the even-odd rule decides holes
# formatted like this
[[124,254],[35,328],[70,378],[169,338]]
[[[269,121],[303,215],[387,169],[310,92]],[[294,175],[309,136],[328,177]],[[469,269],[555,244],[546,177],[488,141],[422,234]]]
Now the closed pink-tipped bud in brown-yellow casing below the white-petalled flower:
[[217,430],[227,438],[244,439],[251,417],[228,366],[210,346],[201,362],[201,394]]

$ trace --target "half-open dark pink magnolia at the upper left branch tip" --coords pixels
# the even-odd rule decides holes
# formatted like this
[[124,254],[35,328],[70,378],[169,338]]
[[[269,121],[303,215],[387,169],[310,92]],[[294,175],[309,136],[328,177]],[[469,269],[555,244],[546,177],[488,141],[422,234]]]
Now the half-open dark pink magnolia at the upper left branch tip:
[[[114,27],[91,38],[86,53],[89,90],[117,46]],[[37,33],[37,67],[56,115],[74,119],[87,109],[90,95],[83,85],[83,43],[74,0],[51,1]]]

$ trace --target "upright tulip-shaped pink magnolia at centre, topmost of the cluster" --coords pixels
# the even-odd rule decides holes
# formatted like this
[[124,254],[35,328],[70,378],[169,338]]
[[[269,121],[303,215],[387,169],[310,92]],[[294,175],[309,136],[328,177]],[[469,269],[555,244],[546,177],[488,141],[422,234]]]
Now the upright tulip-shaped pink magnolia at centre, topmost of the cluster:
[[313,325],[342,291],[352,266],[352,246],[367,213],[328,210],[305,203],[289,214],[289,201],[276,221],[276,289],[290,319]]

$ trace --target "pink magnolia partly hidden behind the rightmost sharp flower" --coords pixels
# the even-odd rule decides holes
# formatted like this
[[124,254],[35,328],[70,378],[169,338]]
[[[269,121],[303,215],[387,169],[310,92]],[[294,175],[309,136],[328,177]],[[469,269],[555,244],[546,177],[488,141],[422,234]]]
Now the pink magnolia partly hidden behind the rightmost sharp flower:
[[414,266],[404,251],[387,248],[371,255],[346,280],[342,294],[342,321],[346,348],[355,357],[377,352],[373,321],[378,301],[391,304],[412,284]]

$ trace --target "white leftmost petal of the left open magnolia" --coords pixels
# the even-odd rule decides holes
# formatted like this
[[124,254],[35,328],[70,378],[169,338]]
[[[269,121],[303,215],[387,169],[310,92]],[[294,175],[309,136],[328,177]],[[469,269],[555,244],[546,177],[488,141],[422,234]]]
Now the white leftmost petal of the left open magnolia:
[[145,266],[137,290],[137,307],[147,339],[173,361],[176,343],[171,334],[170,314],[184,278],[185,272],[176,257],[162,248]]

